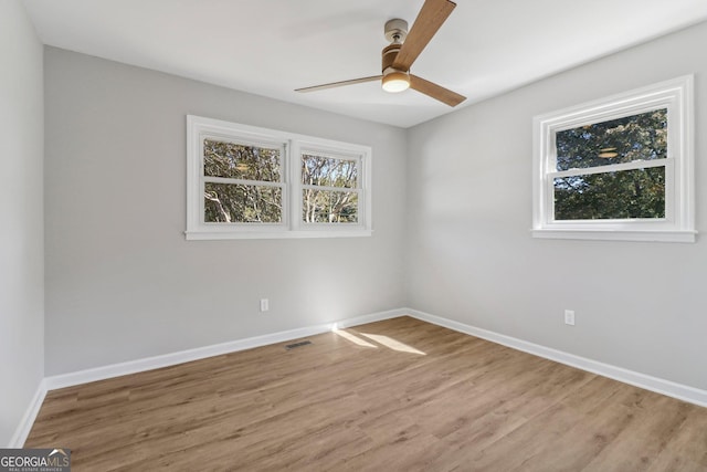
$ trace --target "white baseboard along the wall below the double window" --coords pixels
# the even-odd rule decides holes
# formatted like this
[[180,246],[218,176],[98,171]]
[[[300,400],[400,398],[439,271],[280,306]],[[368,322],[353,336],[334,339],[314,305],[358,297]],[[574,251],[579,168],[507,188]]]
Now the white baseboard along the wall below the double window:
[[315,326],[307,326],[296,329],[288,329],[278,333],[266,334],[263,336],[249,337],[245,339],[236,339],[229,343],[214,344],[211,346],[197,347],[194,349],[181,350],[178,353],[165,354],[161,356],[147,357],[143,359],[129,360],[126,363],[112,364],[109,366],[96,367],[86,370],[80,370],[70,374],[61,374],[50,376],[44,379],[45,389],[54,390],[57,388],[72,387],[75,385],[87,384],[96,380],[119,377],[128,374],[141,373],[145,370],[169,367],[177,364],[199,360],[207,357],[220,356],[223,354],[235,353],[239,350],[251,349],[254,347],[266,346],[268,344],[283,343],[291,339],[297,339],[315,334],[326,333],[335,328],[346,328],[350,326],[362,325],[382,319],[395,318],[404,315],[404,310],[391,310],[388,312],[372,313],[369,315],[357,316],[352,318],[341,319],[336,323],[326,323]]

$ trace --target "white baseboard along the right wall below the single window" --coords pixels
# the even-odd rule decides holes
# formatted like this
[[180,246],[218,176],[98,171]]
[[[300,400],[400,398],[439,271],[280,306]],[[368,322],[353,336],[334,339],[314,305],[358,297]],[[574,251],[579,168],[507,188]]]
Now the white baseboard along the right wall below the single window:
[[598,374],[603,377],[609,377],[624,384],[633,385],[635,387],[655,391],[656,394],[677,398],[678,400],[695,403],[700,407],[707,407],[707,390],[701,390],[699,388],[689,387],[671,380],[652,377],[645,374],[624,369],[622,367],[616,367],[609,364],[600,363],[598,360],[588,359],[585,357],[576,356],[562,350],[557,350],[550,347],[540,346],[538,344],[528,343],[527,340],[494,333],[487,329],[482,329],[475,326],[469,326],[464,323],[431,315],[424,312],[419,312],[416,310],[407,310],[405,313],[409,316],[421,319],[423,322],[432,323],[445,328],[454,329],[460,333],[476,336],[496,344],[502,344],[517,350],[523,350],[524,353],[545,357],[546,359],[566,364],[571,367],[577,367],[578,369]]

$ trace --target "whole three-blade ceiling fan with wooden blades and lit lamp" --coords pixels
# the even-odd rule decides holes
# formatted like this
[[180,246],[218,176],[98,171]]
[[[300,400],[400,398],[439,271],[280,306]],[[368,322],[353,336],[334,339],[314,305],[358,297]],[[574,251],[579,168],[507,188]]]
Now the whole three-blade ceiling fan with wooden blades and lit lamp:
[[456,3],[450,0],[425,0],[410,32],[408,32],[408,22],[405,20],[393,19],[388,21],[384,33],[390,44],[383,48],[382,51],[381,75],[331,82],[329,84],[297,88],[295,92],[315,92],[344,85],[381,81],[386,92],[395,93],[413,88],[450,106],[458,105],[466,99],[465,96],[410,73],[412,63],[455,7]]

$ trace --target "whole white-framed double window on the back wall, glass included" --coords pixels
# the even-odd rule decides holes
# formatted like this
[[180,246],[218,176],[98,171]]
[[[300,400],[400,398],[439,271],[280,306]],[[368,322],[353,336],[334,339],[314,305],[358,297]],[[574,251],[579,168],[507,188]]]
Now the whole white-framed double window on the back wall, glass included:
[[370,147],[187,117],[187,239],[371,234]]

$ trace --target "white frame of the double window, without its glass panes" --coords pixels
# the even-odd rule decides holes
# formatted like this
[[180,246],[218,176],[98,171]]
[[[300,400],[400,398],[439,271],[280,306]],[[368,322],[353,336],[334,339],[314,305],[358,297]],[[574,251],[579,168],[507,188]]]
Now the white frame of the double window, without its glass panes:
[[[283,214],[279,223],[204,222],[204,182],[229,180],[203,176],[203,141],[217,139],[253,146],[282,147],[281,182]],[[302,221],[302,153],[356,160],[359,165],[357,223],[305,223]],[[352,238],[372,234],[370,146],[323,139],[314,136],[187,116],[187,240]],[[232,179],[231,179],[232,180]],[[252,181],[247,181],[252,185]],[[258,183],[260,185],[260,183]]]

